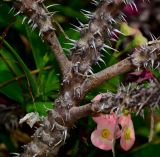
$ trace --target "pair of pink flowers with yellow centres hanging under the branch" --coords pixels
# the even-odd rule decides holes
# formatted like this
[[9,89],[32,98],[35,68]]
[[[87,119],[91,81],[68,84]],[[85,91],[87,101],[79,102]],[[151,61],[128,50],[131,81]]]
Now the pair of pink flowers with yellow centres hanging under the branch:
[[[92,144],[103,150],[111,150],[114,139],[120,138],[123,150],[129,150],[135,142],[134,127],[130,114],[117,116],[115,113],[93,117],[97,128],[91,134]],[[121,129],[119,127],[121,126]]]

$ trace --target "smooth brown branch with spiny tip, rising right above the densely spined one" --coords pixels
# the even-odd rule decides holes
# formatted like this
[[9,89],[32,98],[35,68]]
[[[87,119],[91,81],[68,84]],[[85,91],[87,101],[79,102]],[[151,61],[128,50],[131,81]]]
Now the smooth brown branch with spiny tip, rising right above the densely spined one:
[[160,41],[149,42],[135,49],[133,54],[118,62],[117,64],[108,67],[90,77],[86,83],[86,90],[89,91],[94,87],[102,84],[119,74],[128,72],[132,69],[139,68],[159,68],[160,65]]

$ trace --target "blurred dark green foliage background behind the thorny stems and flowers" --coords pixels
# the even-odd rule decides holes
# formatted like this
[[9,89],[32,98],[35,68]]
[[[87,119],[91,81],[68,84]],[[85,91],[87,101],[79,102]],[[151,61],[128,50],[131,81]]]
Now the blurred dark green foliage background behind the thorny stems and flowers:
[[[45,4],[52,4],[53,1],[46,0]],[[78,20],[86,23],[88,20],[80,12],[81,9],[94,11],[95,7],[89,0],[56,0],[54,3],[61,5],[50,8],[50,11],[57,11],[54,19],[62,26],[66,35],[72,39],[78,39],[79,33],[74,31],[73,26],[79,25]],[[156,34],[160,32],[159,2],[153,0],[150,4],[138,2],[140,12],[129,11],[127,20],[129,25],[123,23],[121,31],[127,37],[120,35],[117,42],[113,42],[114,48],[119,52],[107,50],[104,54],[104,63],[93,67],[94,72],[102,70],[106,66],[113,65],[131,53],[131,49],[150,40],[149,32]],[[14,16],[16,12],[11,9],[11,1],[0,2],[0,157],[13,156],[13,152],[21,152],[22,145],[28,143],[34,128],[27,124],[19,126],[19,119],[27,112],[38,112],[45,116],[49,108],[54,107],[54,99],[58,96],[60,88],[60,75],[58,65],[53,52],[45,42],[38,36],[38,30],[31,30],[25,22],[22,24],[23,16]],[[145,14],[142,14],[142,12]],[[59,40],[66,52],[71,46],[66,44],[69,41],[58,25],[56,25]],[[135,31],[136,30],[136,31]],[[133,33],[135,31],[135,33]],[[153,73],[158,72],[153,71]],[[116,92],[118,86],[128,83],[131,79],[127,74],[117,76],[107,81],[102,86],[90,92],[84,102],[90,101],[95,95],[110,90]],[[119,157],[158,157],[160,154],[160,121],[159,111],[155,114],[156,126],[155,136],[151,143],[148,143],[150,131],[150,112],[146,110],[145,118],[134,116],[136,131],[136,143],[129,152],[120,149],[116,144],[116,154]],[[36,124],[38,126],[38,124]],[[36,127],[36,126],[35,126]],[[92,146],[90,134],[95,128],[91,117],[81,119],[76,128],[71,131],[71,137],[66,141],[59,156],[68,157],[105,157],[112,156],[112,153],[105,152]]]

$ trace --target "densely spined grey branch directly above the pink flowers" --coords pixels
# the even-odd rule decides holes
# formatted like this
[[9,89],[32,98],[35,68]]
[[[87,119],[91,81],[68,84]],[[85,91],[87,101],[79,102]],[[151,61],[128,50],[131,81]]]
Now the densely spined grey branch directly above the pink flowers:
[[145,107],[150,108],[152,111],[159,108],[159,95],[160,83],[157,81],[151,81],[148,87],[145,87],[144,84],[130,84],[127,87],[121,86],[116,94],[111,92],[102,93],[102,98],[98,102],[93,101],[80,107],[73,107],[70,113],[75,121],[98,113],[110,114],[113,111],[122,113],[125,110],[144,116]]

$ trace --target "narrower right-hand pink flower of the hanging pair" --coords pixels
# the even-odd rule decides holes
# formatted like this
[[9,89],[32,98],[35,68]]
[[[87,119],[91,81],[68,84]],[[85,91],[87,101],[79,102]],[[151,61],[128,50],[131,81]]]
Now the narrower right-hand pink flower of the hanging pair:
[[122,126],[122,134],[120,139],[120,145],[123,150],[129,150],[135,142],[134,127],[131,119],[131,115],[123,115],[119,118],[119,124]]

